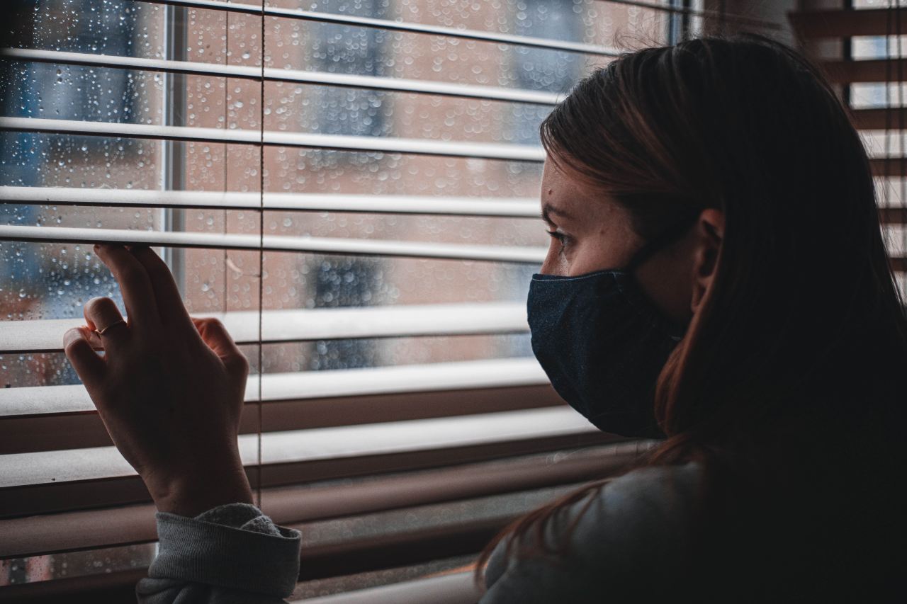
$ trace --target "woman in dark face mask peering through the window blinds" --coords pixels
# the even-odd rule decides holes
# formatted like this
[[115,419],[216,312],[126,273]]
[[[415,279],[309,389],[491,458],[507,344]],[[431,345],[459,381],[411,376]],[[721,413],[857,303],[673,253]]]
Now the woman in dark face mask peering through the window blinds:
[[[517,522],[482,602],[902,600],[907,324],[828,84],[765,38],[702,38],[593,73],[541,133],[535,355],[602,430],[667,438]],[[151,250],[97,253],[130,322],[95,298],[65,350],[161,511],[141,601],[288,595],[298,533],[237,453],[246,360]]]

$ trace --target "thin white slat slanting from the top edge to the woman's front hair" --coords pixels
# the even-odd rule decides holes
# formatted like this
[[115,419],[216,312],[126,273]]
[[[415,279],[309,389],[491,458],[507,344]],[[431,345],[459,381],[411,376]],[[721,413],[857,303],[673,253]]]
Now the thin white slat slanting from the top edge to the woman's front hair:
[[356,27],[370,27],[385,29],[392,32],[406,32],[410,34],[443,35],[449,38],[461,38],[477,42],[496,42],[499,44],[515,44],[548,50],[559,50],[568,53],[595,54],[599,56],[617,56],[619,52],[613,48],[598,44],[585,44],[582,42],[569,42],[566,40],[552,40],[528,35],[499,34],[496,32],[479,31],[458,27],[444,27],[441,25],[407,23],[405,21],[392,21],[390,19],[376,19],[354,15],[337,15],[332,13],[318,13],[297,8],[280,8],[278,6],[243,5],[217,0],[141,0],[149,4],[181,6],[184,8],[201,8],[209,10],[229,11],[244,13],[246,15],[266,15],[269,17],[282,17],[299,19],[313,23],[326,23],[338,25],[351,25]]

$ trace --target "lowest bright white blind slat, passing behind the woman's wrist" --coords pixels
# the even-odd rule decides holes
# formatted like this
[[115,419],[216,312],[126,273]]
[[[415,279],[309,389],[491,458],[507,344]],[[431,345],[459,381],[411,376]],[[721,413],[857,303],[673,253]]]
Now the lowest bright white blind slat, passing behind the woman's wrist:
[[[269,432],[260,435],[261,463],[309,463],[596,432],[598,428],[564,406]],[[258,465],[258,438],[257,434],[239,436],[239,456],[246,466]],[[0,456],[0,489],[134,474],[132,466],[112,446]]]

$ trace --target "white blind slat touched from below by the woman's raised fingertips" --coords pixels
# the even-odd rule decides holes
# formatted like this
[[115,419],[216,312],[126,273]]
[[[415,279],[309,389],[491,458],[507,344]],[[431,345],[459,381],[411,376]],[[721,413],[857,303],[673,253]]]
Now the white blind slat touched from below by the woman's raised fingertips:
[[[0,226],[0,239],[44,243],[119,243],[165,248],[262,249],[264,251],[356,254],[402,258],[437,258],[541,264],[546,248],[528,246],[479,246],[380,239],[331,239],[185,231],[127,229],[75,229],[70,227]],[[263,243],[263,245],[259,245]]]

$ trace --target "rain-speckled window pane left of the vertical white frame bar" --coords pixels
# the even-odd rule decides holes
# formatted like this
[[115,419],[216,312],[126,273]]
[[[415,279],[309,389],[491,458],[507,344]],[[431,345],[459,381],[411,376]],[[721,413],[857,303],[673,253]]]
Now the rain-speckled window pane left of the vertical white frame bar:
[[[10,3],[10,21],[32,35],[24,47],[64,52],[153,56],[163,34],[160,6],[128,0]],[[112,35],[112,32],[116,32]],[[5,115],[90,122],[159,123],[160,73],[55,63],[0,63]],[[154,141],[0,132],[0,185],[103,189],[157,188]],[[160,210],[0,204],[0,224],[22,226],[158,227]],[[122,302],[91,246],[0,242],[0,311],[5,320],[81,317],[94,296]],[[4,385],[21,380],[73,384],[62,355],[2,359]],[[40,384],[36,384],[40,385]]]

